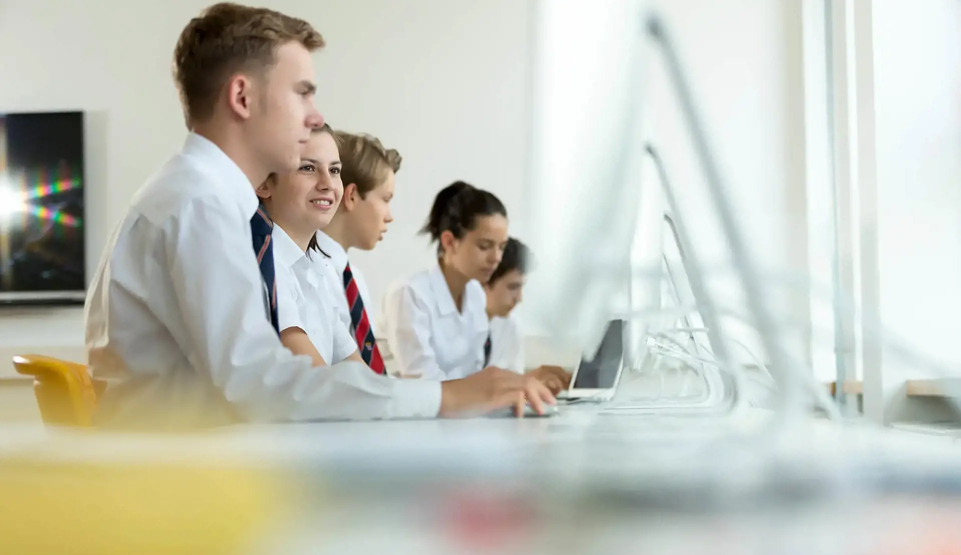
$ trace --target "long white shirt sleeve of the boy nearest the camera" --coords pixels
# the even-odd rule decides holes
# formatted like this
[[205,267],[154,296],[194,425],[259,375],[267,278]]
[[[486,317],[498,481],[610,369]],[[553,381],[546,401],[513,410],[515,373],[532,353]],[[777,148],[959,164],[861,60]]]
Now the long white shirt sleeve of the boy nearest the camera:
[[[283,348],[268,321],[249,236],[231,205],[194,199],[164,237],[196,372],[250,421],[434,417],[440,384],[391,379],[344,361],[324,369]],[[230,283],[225,295],[224,283]]]

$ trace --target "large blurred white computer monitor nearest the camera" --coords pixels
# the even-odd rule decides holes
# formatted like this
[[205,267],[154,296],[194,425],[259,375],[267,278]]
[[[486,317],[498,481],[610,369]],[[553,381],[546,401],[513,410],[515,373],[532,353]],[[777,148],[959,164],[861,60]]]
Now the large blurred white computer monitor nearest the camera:
[[657,236],[634,240],[642,196],[657,196],[642,176],[645,13],[641,0],[535,6],[527,205],[538,270],[525,288],[526,317],[537,333],[593,352],[609,320],[659,307],[658,279],[634,287],[631,268],[632,247],[650,258],[642,272],[660,262],[661,206],[651,210]]

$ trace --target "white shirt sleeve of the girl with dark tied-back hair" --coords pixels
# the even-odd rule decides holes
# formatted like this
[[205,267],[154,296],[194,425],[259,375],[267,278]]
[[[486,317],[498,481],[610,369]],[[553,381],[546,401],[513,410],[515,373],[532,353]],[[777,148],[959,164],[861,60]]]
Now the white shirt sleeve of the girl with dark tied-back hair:
[[398,287],[387,294],[383,302],[383,323],[397,373],[420,374],[425,379],[438,381],[448,379],[437,365],[431,348],[430,310],[414,298],[410,287]]

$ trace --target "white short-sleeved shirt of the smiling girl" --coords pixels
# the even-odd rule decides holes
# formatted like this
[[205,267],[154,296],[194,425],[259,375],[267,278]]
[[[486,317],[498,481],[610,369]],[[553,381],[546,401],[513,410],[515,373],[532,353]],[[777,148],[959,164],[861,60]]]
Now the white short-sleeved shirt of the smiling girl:
[[[323,254],[300,250],[280,226],[274,224],[274,266],[281,331],[300,327],[327,364],[340,362],[357,351],[349,323],[344,325],[328,279],[316,259]],[[282,276],[283,273],[283,276]]]

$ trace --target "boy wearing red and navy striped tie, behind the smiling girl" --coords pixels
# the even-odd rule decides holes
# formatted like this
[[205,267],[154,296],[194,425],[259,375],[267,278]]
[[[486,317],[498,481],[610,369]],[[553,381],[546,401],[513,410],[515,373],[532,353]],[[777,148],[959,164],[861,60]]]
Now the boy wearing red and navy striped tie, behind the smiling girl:
[[[394,198],[394,176],[401,169],[401,155],[385,149],[369,134],[334,132],[340,151],[343,200],[330,225],[317,233],[317,245],[329,257],[324,270],[334,288],[334,302],[345,316],[361,358],[372,370],[385,372],[381,346],[374,323],[375,302],[367,282],[351,264],[351,249],[373,250],[393,221],[390,201]],[[339,289],[339,294],[336,290]]]

